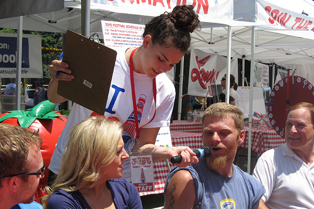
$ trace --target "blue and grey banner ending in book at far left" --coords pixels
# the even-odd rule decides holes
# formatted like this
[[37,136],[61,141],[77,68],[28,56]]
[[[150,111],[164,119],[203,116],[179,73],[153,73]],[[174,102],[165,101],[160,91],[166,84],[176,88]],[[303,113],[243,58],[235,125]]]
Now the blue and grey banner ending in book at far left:
[[[16,78],[16,34],[0,33],[0,78]],[[43,78],[41,36],[23,34],[21,78]]]

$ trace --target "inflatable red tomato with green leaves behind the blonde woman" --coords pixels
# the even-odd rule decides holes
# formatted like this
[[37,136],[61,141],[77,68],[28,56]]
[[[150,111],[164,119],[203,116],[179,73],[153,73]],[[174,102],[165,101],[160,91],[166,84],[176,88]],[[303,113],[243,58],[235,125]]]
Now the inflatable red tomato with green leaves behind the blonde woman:
[[41,203],[40,198],[46,194],[44,189],[48,182],[47,168],[50,164],[50,158],[67,120],[66,117],[63,117],[64,115],[58,113],[59,111],[52,111],[54,107],[55,105],[53,103],[46,100],[26,111],[10,111],[0,114],[0,123],[39,131],[39,136],[43,140],[40,149],[46,164],[46,171],[45,177],[40,179],[35,194],[35,200],[39,203]]

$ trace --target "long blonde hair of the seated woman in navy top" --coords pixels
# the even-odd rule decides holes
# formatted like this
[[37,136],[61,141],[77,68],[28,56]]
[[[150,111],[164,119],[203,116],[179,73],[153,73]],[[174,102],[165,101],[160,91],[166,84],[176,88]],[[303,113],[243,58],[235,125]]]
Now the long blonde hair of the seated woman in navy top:
[[56,190],[74,192],[92,188],[100,177],[100,168],[115,158],[122,125],[104,117],[90,117],[74,126],[62,155],[59,175],[42,203],[46,208],[49,196]]

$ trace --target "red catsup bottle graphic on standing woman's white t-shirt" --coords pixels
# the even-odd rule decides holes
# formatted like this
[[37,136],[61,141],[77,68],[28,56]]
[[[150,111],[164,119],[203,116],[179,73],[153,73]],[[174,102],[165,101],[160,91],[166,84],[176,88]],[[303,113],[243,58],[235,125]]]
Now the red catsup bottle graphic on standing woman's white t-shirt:
[[[146,101],[145,95],[140,95],[139,101],[136,105],[138,122],[141,122],[141,114],[143,112],[144,104]],[[126,122],[123,124],[123,130],[126,131],[132,138],[135,138],[135,115],[134,111],[127,118]]]

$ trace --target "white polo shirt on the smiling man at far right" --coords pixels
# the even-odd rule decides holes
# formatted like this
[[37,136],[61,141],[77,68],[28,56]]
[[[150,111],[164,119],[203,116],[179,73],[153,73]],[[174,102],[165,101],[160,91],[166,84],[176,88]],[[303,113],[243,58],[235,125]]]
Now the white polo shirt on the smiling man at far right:
[[314,209],[314,163],[308,166],[287,144],[263,153],[253,177],[265,186],[269,209]]

